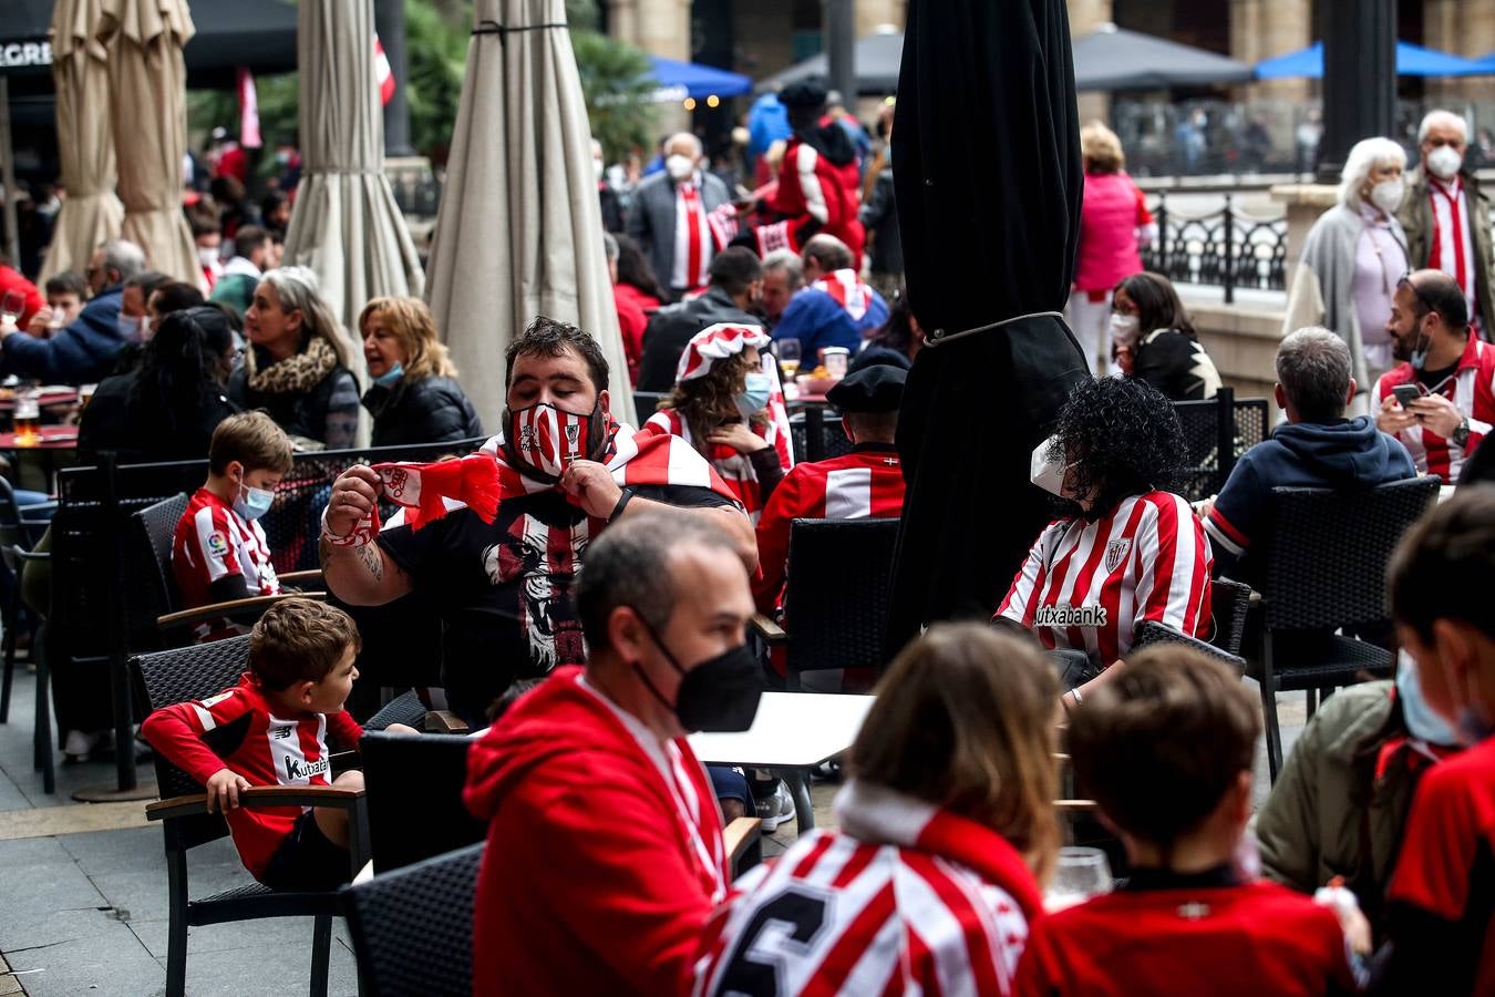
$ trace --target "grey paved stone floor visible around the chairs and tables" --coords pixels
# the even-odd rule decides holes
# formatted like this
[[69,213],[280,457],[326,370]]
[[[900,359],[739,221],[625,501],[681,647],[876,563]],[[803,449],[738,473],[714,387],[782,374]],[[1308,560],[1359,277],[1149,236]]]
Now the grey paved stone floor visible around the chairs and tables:
[[[166,862],[161,831],[144,821],[144,803],[78,804],[70,794],[108,785],[112,764],[58,767],[57,794],[31,771],[33,680],[18,668],[10,722],[0,725],[0,997],[160,994],[166,984]],[[1253,686],[1254,689],[1254,686]],[[1302,697],[1281,698],[1290,747],[1302,725]],[[142,782],[150,765],[139,767]],[[1257,801],[1266,791],[1257,752]],[[836,786],[815,785],[815,819],[831,824]],[[788,822],[764,854],[795,837]],[[205,895],[248,882],[227,839],[194,851],[190,883]],[[306,988],[311,922],[278,919],[193,928],[190,994],[295,994]],[[354,994],[347,930],[333,927],[332,994]]]

